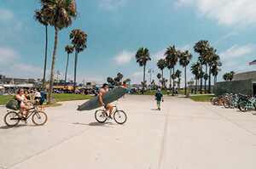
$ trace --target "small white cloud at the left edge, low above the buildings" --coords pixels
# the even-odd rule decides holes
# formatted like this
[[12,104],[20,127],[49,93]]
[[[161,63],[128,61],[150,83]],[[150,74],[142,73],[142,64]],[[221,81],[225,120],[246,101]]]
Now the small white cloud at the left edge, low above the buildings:
[[20,59],[20,54],[15,52],[13,48],[0,47],[0,65],[9,65]]

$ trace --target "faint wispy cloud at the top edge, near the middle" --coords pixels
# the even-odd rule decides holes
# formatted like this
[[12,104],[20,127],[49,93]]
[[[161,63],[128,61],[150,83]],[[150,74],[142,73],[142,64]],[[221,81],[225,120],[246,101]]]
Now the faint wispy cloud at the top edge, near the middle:
[[127,0],[100,0],[100,8],[104,8],[108,11],[116,12],[120,8],[123,8]]

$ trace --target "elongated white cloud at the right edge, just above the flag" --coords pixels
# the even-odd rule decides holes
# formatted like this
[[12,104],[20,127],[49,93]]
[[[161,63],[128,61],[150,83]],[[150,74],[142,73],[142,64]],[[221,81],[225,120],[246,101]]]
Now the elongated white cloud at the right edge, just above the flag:
[[253,50],[256,48],[255,45],[252,43],[239,47],[239,45],[234,45],[228,50],[224,51],[223,53],[220,53],[219,56],[221,59],[233,59],[237,58],[239,56],[242,56],[244,54],[250,54],[253,52]]

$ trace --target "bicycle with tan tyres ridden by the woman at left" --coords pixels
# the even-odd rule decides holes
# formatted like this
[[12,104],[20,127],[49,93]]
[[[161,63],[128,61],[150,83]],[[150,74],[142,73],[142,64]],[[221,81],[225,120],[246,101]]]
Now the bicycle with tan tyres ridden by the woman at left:
[[47,121],[47,115],[46,113],[44,113],[44,111],[36,110],[34,105],[28,110],[32,111],[29,112],[27,118],[23,115],[23,112],[22,116],[19,116],[18,114],[20,113],[20,111],[17,113],[14,110],[7,110],[8,113],[4,115],[4,123],[9,127],[15,127],[20,121],[26,121],[32,115],[32,122],[35,125],[42,126],[45,124],[45,122]]

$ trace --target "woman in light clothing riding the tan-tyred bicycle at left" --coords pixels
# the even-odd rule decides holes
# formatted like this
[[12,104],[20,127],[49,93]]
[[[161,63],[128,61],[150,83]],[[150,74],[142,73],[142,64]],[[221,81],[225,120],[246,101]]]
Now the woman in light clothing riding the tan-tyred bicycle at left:
[[[18,91],[18,94],[15,95],[15,99],[18,101],[18,104],[20,104],[20,112],[19,112],[19,116],[22,116],[22,112],[24,110],[26,110],[26,118],[29,114],[29,106],[26,105],[27,103],[27,99],[25,97],[25,94],[24,94],[24,90],[19,88],[19,91]],[[25,121],[27,123],[27,121]]]

